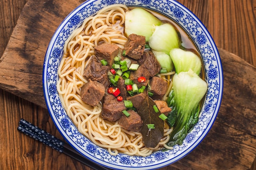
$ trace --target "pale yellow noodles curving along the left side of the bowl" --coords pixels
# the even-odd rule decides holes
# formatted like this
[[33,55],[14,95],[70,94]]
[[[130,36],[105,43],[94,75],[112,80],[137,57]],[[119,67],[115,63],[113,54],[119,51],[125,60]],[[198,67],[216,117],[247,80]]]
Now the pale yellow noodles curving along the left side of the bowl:
[[[171,130],[165,123],[164,137],[155,148],[146,148],[140,132],[124,130],[117,122],[102,119],[101,104],[93,107],[81,100],[79,89],[87,83],[83,71],[94,55],[94,47],[100,42],[124,46],[127,38],[123,35],[125,5],[115,4],[101,9],[97,15],[84,20],[74,30],[64,45],[64,55],[58,69],[57,91],[67,115],[79,132],[94,144],[108,149],[111,155],[118,152],[127,155],[147,156],[160,150],[168,141]],[[171,89],[169,83],[168,91]],[[167,95],[167,94],[166,94]],[[165,97],[166,97],[165,95]]]

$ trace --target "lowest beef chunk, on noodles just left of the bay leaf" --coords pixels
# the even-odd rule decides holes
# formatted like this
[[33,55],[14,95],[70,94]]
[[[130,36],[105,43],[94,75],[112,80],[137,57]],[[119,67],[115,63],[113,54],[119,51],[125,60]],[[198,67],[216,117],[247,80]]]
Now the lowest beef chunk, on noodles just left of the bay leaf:
[[118,121],[118,124],[126,130],[139,132],[141,126],[143,125],[141,117],[134,110],[128,110],[127,112],[130,114],[130,116],[127,117],[126,115],[122,115]]

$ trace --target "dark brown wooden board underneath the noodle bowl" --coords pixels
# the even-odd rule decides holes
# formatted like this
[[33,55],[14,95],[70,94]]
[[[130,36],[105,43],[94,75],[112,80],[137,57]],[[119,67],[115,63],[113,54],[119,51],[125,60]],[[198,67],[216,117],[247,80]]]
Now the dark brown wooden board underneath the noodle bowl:
[[[42,72],[48,43],[65,16],[82,2],[27,2],[0,58],[0,88],[46,108]],[[256,156],[256,68],[223,49],[219,53],[224,71],[220,112],[205,142],[174,167],[249,169]]]

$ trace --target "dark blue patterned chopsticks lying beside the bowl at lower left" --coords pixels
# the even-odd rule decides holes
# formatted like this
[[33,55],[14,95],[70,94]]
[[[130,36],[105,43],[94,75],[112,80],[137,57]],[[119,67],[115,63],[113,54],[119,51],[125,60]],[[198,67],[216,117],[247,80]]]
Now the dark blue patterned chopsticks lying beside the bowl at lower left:
[[43,144],[45,144],[55,150],[58,150],[59,152],[64,153],[65,155],[75,159],[76,161],[83,163],[84,165],[86,165],[94,170],[112,170],[110,168],[100,166],[97,163],[94,163],[94,162],[86,159],[81,154],[79,154],[74,148],[72,148],[69,144],[58,139],[57,137],[54,137],[53,135],[49,134],[48,132],[45,132],[45,130],[38,128],[37,126],[29,123],[28,121],[26,121],[24,119],[20,119],[18,130],[22,133],[25,133],[29,137],[32,137],[35,140],[38,140],[38,141],[42,142]]

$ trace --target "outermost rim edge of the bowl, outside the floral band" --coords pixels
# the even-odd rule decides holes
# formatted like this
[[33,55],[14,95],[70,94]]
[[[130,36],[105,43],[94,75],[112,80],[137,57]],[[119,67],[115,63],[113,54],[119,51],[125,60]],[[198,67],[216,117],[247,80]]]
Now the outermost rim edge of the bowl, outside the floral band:
[[[90,3],[94,3],[94,2],[97,2],[97,1],[99,2],[99,0],[88,0],[88,1],[85,1],[82,4],[80,4],[78,7],[76,7],[72,12],[70,12],[65,17],[65,19],[61,22],[61,24],[58,26],[56,31],[54,32],[54,35],[52,36],[52,39],[50,40],[49,45],[47,47],[47,52],[45,54],[45,60],[44,60],[44,64],[43,64],[43,77],[42,77],[42,79],[43,79],[43,93],[44,93],[47,109],[49,111],[49,114],[50,114],[50,116],[51,116],[51,118],[52,118],[56,128],[61,133],[61,135],[64,137],[64,139],[67,141],[67,143],[69,143],[73,148],[75,148],[80,154],[82,154],[83,156],[85,156],[88,159],[90,159],[90,161],[94,161],[96,163],[99,163],[102,166],[107,166],[109,168],[115,168],[115,169],[120,169],[120,168],[122,168],[122,169],[131,169],[131,168],[134,168],[134,169],[145,169],[145,168],[156,169],[156,168],[162,168],[164,166],[167,166],[167,165],[169,165],[171,163],[174,163],[174,162],[182,159],[183,157],[188,155],[194,148],[196,148],[198,146],[198,144],[200,144],[202,142],[204,137],[206,137],[206,135],[208,134],[209,130],[213,126],[214,121],[216,120],[216,117],[217,117],[219,109],[220,109],[221,100],[222,100],[222,93],[223,93],[223,71],[222,71],[222,63],[221,63],[221,60],[220,60],[220,55],[218,53],[217,46],[216,46],[215,42],[213,41],[213,38],[211,37],[211,35],[210,35],[209,31],[207,30],[207,28],[204,26],[204,24],[199,20],[199,18],[192,11],[190,11],[183,4],[181,4],[180,2],[177,2],[175,0],[166,0],[166,2],[171,2],[172,4],[175,5],[175,7],[178,7],[179,9],[182,9],[184,13],[186,12],[187,14],[191,15],[191,17],[195,20],[195,22],[199,24],[200,28],[202,28],[202,31],[204,31],[205,35],[207,36],[207,40],[210,41],[210,44],[213,47],[214,55],[216,57],[215,59],[216,59],[217,66],[218,66],[217,68],[218,68],[218,82],[219,82],[219,85],[218,85],[219,91],[218,91],[218,93],[219,93],[219,95],[218,95],[218,98],[216,99],[217,100],[217,102],[215,104],[216,107],[213,108],[213,110],[211,110],[211,111],[213,111],[211,113],[212,117],[211,117],[210,120],[208,120],[209,124],[204,129],[204,131],[202,132],[202,135],[200,135],[191,146],[189,146],[188,148],[185,149],[186,152],[182,152],[181,155],[178,155],[178,156],[175,156],[175,157],[173,157],[171,159],[168,159],[165,162],[160,161],[159,163],[149,164],[149,165],[145,165],[145,166],[130,167],[130,166],[124,166],[124,165],[115,165],[113,163],[102,161],[101,159],[98,159],[98,158],[88,154],[88,152],[86,152],[85,150],[81,150],[79,148],[79,146],[74,141],[71,140],[70,136],[67,135],[67,132],[65,132],[63,127],[60,126],[60,122],[56,119],[56,117],[54,115],[54,108],[52,108],[52,106],[51,106],[51,104],[49,102],[49,94],[48,94],[49,86],[48,86],[48,83],[47,83],[47,70],[48,70],[47,66],[49,64],[49,58],[50,58],[49,56],[51,54],[50,52],[53,49],[52,46],[54,46],[54,44],[56,42],[56,38],[59,36],[59,34],[61,33],[61,30],[65,27],[65,25],[72,18],[73,15],[78,13],[86,5],[89,5]],[[136,5],[132,5],[132,6],[136,6],[137,7],[138,5],[136,4]],[[147,7],[147,6],[145,6],[145,8],[149,9],[149,7]],[[150,10],[156,11],[155,9],[150,9]],[[171,18],[171,17],[169,16],[169,18]],[[177,23],[177,24],[180,25],[180,23]],[[61,54],[61,58],[62,58],[62,56],[63,56],[63,54]],[[205,66],[205,64],[203,64],[203,66]],[[208,91],[208,89],[207,89],[207,91]],[[63,107],[63,106],[60,105],[60,107]],[[202,112],[202,110],[201,110],[201,112]],[[74,126],[74,124],[73,124],[73,126]],[[120,154],[120,155],[124,156],[125,154]],[[95,159],[97,159],[97,160],[95,160]]]

